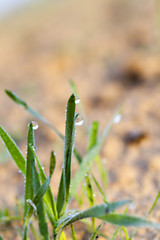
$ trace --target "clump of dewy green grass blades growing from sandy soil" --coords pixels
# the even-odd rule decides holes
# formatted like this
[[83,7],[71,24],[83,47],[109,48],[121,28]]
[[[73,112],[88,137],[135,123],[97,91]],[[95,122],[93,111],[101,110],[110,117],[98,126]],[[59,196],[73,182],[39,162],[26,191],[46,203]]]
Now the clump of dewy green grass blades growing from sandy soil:
[[[77,90],[74,83],[71,84],[73,91]],[[73,223],[86,218],[91,219],[92,236],[90,240],[97,239],[98,235],[103,236],[105,239],[116,239],[120,231],[124,232],[125,239],[131,240],[139,227],[153,227],[160,230],[158,223],[147,220],[148,215],[153,211],[160,194],[157,195],[153,206],[149,210],[148,214],[144,218],[131,216],[127,214],[128,205],[131,200],[119,200],[116,202],[109,202],[105,191],[98,183],[96,177],[92,173],[93,162],[97,163],[98,169],[102,176],[103,181],[107,178],[100,161],[100,149],[103,142],[111,129],[115,117],[119,114],[118,109],[112,119],[104,128],[101,136],[98,138],[98,123],[93,122],[91,129],[86,127],[86,132],[89,137],[89,143],[86,154],[82,157],[79,151],[74,147],[75,142],[75,128],[78,121],[79,114],[76,113],[77,98],[72,94],[68,100],[66,108],[65,118],[65,135],[61,134],[57,128],[51,125],[45,118],[38,114],[35,110],[28,106],[28,104],[20,99],[13,92],[6,90],[7,95],[17,104],[23,106],[29,113],[31,113],[38,120],[49,126],[57,135],[64,141],[64,157],[61,170],[61,178],[59,186],[57,186],[57,196],[52,193],[50,180],[54,176],[54,170],[56,167],[55,153],[52,151],[50,155],[50,167],[48,177],[46,176],[43,167],[36,154],[36,146],[34,141],[34,132],[36,129],[35,123],[30,122],[28,125],[28,138],[27,138],[27,155],[24,157],[9,134],[0,126],[0,137],[10,153],[12,159],[16,163],[19,171],[24,176],[25,182],[25,195],[23,203],[23,228],[20,229],[20,234],[23,240],[28,240],[29,232],[32,232],[34,239],[43,240],[64,240],[65,228],[69,225],[71,227],[72,239],[76,240],[76,232]],[[81,107],[82,109],[82,107]],[[74,153],[79,168],[73,178],[71,178],[71,165],[72,154]],[[89,202],[89,208],[85,210],[68,209],[71,199],[78,198],[79,203],[83,203],[83,196],[77,195],[77,190],[81,186],[81,183],[85,181],[85,188],[87,192],[87,198]],[[94,188],[93,183],[97,187],[102,199],[102,203],[95,205],[94,201]],[[125,211],[122,214],[116,212],[118,208],[126,206]],[[38,222],[39,233],[34,227],[36,220]],[[17,216],[16,216],[17,219]],[[101,223],[97,225],[95,219],[101,220]],[[14,220],[12,216],[6,216],[6,221]],[[0,216],[0,221],[5,222],[5,216]],[[100,232],[101,225],[104,223],[110,223],[117,225],[117,229],[114,234],[108,238]],[[126,227],[134,226],[135,231],[129,235]],[[0,236],[2,239],[2,236]]]

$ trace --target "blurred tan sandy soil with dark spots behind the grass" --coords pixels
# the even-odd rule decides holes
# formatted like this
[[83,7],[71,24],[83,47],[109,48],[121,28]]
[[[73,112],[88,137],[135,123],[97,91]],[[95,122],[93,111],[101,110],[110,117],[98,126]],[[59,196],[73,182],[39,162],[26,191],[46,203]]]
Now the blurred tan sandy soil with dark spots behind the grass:
[[[100,132],[123,104],[122,119],[101,155],[109,200],[132,198],[138,215],[148,211],[160,188],[159,5],[159,0],[0,1],[0,124],[25,154],[27,125],[35,119],[5,89],[63,133],[71,79],[88,123],[98,120]],[[47,168],[50,151],[57,152],[53,184],[58,184],[63,143],[38,124],[37,154]],[[76,146],[82,154],[86,143],[83,126],[77,128]],[[0,209],[12,209],[23,188],[23,177],[0,142]],[[153,218],[159,221],[160,213],[155,211]],[[153,230],[148,238],[143,230],[138,234],[137,239],[160,237]]]

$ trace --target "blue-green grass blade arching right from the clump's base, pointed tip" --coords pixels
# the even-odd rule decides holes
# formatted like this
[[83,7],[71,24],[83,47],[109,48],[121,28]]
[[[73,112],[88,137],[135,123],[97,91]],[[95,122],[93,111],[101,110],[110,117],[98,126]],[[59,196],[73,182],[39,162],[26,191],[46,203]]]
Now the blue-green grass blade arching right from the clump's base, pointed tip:
[[122,200],[122,201],[112,202],[108,204],[101,204],[101,205],[97,205],[92,208],[89,208],[87,210],[77,212],[75,214],[67,216],[66,218],[58,222],[56,239],[59,239],[61,231],[69,224],[84,218],[95,217],[95,218],[101,219],[101,217],[107,216],[110,212],[113,212],[117,208],[120,208],[123,205],[128,204],[130,202],[131,202],[130,200]]

